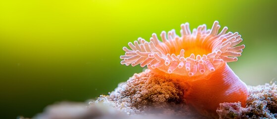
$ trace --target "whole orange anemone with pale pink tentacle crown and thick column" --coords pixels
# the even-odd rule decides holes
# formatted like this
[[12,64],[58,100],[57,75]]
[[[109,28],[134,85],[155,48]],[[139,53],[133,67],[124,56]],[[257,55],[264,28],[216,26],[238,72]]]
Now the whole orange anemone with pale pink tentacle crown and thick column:
[[186,82],[186,103],[202,113],[215,113],[219,103],[241,102],[245,105],[247,86],[226,62],[237,61],[244,45],[241,35],[227,31],[215,21],[212,29],[200,25],[192,32],[189,24],[181,25],[181,36],[175,30],[161,33],[162,42],[154,33],[150,42],[138,38],[126,52],[121,64],[147,67],[157,74]]

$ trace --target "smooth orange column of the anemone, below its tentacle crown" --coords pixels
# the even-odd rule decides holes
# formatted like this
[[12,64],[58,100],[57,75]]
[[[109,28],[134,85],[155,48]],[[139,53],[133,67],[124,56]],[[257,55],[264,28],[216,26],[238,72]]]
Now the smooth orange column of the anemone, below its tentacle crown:
[[247,86],[226,63],[188,84],[190,87],[184,93],[186,103],[202,115],[218,118],[216,110],[224,102],[241,102],[243,107],[246,106]]

